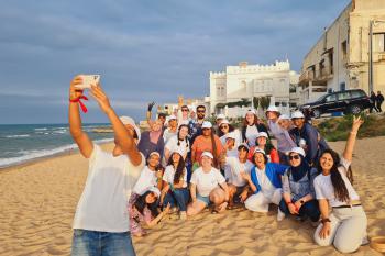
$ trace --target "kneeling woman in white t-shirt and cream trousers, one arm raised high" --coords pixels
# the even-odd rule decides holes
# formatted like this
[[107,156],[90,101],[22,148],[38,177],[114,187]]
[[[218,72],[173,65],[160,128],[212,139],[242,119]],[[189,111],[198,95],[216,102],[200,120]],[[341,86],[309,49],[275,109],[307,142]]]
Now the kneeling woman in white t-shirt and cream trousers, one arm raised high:
[[352,186],[353,148],[356,134],[363,121],[353,118],[342,157],[332,149],[326,149],[319,158],[315,190],[321,211],[321,224],[315,233],[320,246],[333,244],[341,253],[352,253],[367,242],[366,214],[361,205],[360,196]]

